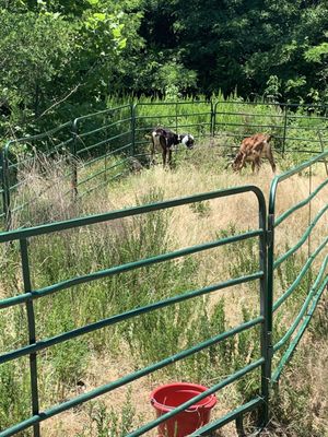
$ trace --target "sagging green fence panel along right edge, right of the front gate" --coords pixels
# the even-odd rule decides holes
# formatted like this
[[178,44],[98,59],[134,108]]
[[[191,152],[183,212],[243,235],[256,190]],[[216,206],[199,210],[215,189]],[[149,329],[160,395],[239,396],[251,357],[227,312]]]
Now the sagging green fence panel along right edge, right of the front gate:
[[[276,281],[277,273],[281,269],[295,269],[293,257],[300,250],[304,250],[303,264],[298,267],[300,272],[296,270],[296,276],[293,277],[291,284],[283,294],[278,296],[272,306],[273,316],[282,310],[283,306],[294,298],[300,287],[303,288],[303,293],[297,295],[297,310],[295,319],[291,323],[286,332],[281,333],[280,338],[276,338],[273,341],[273,354],[277,357],[277,364],[272,374],[272,382],[277,382],[281,376],[281,373],[285,364],[291,358],[296,345],[302,339],[316,306],[325,292],[328,288],[328,274],[327,274],[327,244],[328,244],[328,227],[327,227],[327,210],[328,202],[323,199],[323,205],[319,204],[318,211],[314,212],[312,208],[312,201],[314,199],[320,199],[324,189],[328,186],[328,178],[317,187],[313,187],[312,173],[313,166],[325,158],[328,152],[316,156],[315,158],[303,163],[302,165],[285,172],[284,174],[278,175],[271,184],[270,199],[269,199],[269,211],[268,211],[268,295],[270,298],[274,295],[274,275]],[[277,210],[277,192],[284,181],[289,181],[294,175],[300,172],[308,172],[309,189],[308,196],[296,204],[292,204],[291,208],[283,211],[279,216],[276,214]],[[284,249],[284,251],[277,253],[274,245],[274,235],[283,225],[292,217],[297,217],[297,211],[302,208],[308,206],[308,223],[305,232],[293,241],[294,245]],[[325,215],[326,214],[326,215]],[[326,218],[326,221],[325,221]],[[316,231],[318,223],[326,223],[324,232],[319,233]],[[295,229],[294,229],[295,233]],[[321,256],[321,259],[320,259]],[[290,263],[290,264],[289,264]],[[301,304],[301,305],[300,305]],[[271,304],[269,304],[271,305]],[[296,305],[295,305],[296,307]],[[278,336],[278,335],[277,335]]]

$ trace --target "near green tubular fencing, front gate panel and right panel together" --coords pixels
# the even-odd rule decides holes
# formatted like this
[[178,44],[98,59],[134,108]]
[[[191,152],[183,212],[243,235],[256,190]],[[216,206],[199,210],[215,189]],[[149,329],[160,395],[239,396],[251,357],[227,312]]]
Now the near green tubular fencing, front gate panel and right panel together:
[[[316,233],[317,223],[321,217],[325,216],[325,213],[327,212],[327,202],[325,202],[325,205],[319,209],[318,213],[315,216],[312,216],[312,211],[309,211],[308,227],[306,232],[301,235],[301,238],[297,239],[296,244],[293,245],[291,248],[288,248],[283,252],[281,251],[281,249],[278,250],[278,245],[276,244],[274,236],[281,225],[285,221],[288,221],[289,217],[293,216],[293,214],[297,214],[297,211],[300,211],[301,208],[311,205],[313,201],[320,198],[324,188],[328,185],[328,180],[325,180],[318,187],[312,187],[312,179],[309,177],[308,196],[301,202],[292,204],[291,208],[280,213],[278,217],[276,196],[278,188],[282,182],[289,181],[294,175],[300,172],[311,172],[312,167],[317,163],[320,163],[324,158],[327,157],[327,155],[328,152],[324,152],[313,160],[282,175],[279,175],[273,179],[270,189],[268,222],[267,208],[262,192],[257,187],[247,186],[197,194],[188,198],[155,202],[106,214],[75,218],[66,222],[43,225],[34,228],[17,229],[0,234],[1,244],[5,245],[9,241],[12,241],[12,247],[14,247],[14,245],[19,245],[16,250],[21,259],[21,269],[24,283],[23,293],[12,295],[11,297],[8,297],[5,299],[1,299],[0,308],[1,310],[9,310],[11,307],[25,305],[24,315],[27,319],[28,324],[28,344],[26,343],[23,344],[21,347],[12,349],[2,353],[0,355],[0,364],[4,365],[5,363],[13,362],[23,356],[30,358],[30,383],[32,404],[32,414],[30,414],[28,417],[25,417],[22,422],[12,424],[12,426],[8,427],[8,429],[2,430],[0,433],[0,436],[12,436],[32,426],[34,428],[34,436],[39,436],[39,424],[43,421],[46,421],[51,416],[55,416],[68,409],[72,409],[101,394],[116,390],[119,387],[122,387],[143,376],[151,375],[152,373],[161,368],[174,365],[177,362],[184,362],[188,357],[201,351],[210,350],[212,346],[224,343],[231,338],[247,332],[248,330],[255,330],[255,339],[259,351],[258,356],[256,356],[255,358],[251,357],[254,358],[251,361],[246,359],[244,366],[241,366],[238,369],[236,369],[236,371],[222,378],[220,381],[214,383],[207,392],[198,395],[197,398],[194,398],[189,402],[181,404],[169,413],[166,413],[157,420],[148,423],[127,435],[130,437],[136,437],[148,433],[150,429],[154,428],[156,425],[164,422],[168,417],[172,417],[178,414],[179,411],[187,409],[194,402],[206,398],[210,393],[220,391],[227,385],[239,380],[243,376],[250,376],[250,374],[254,374],[257,369],[260,370],[260,374],[256,374],[256,395],[254,395],[251,399],[247,399],[245,403],[238,405],[235,410],[229,412],[220,418],[215,418],[207,426],[200,428],[197,433],[195,433],[195,436],[209,435],[209,433],[219,429],[226,423],[234,420],[236,421],[236,427],[239,434],[243,435],[243,415],[246,412],[253,410],[258,411],[259,420],[256,425],[258,432],[260,432],[260,429],[262,429],[267,425],[270,416],[271,385],[279,379],[281,371],[285,367],[286,362],[290,359],[293,351],[295,350],[295,346],[297,345],[303,333],[305,332],[305,329],[308,326],[308,322],[314,314],[319,298],[325,288],[327,288],[328,284],[328,275],[326,272],[328,256],[326,255],[321,262],[316,262],[318,260],[318,256],[323,255],[325,249],[327,250],[327,226],[324,226],[324,238],[321,238],[321,234]],[[69,229],[82,231],[86,227],[94,226],[99,223],[108,223],[117,220],[129,220],[129,217],[139,215],[148,216],[148,214],[153,214],[151,215],[151,221],[153,222],[156,220],[156,214],[161,211],[163,212],[169,209],[177,209],[179,206],[188,204],[195,205],[204,201],[214,201],[215,199],[237,197],[242,193],[249,193],[249,196],[253,197],[255,194],[257,198],[258,206],[255,211],[255,213],[258,215],[259,222],[257,228],[248,229],[247,232],[236,235],[224,235],[224,237],[218,237],[215,240],[212,241],[207,241],[197,246],[179,248],[171,252],[164,251],[162,253],[154,253],[152,257],[148,258],[137,258],[130,260],[128,263],[108,265],[104,270],[93,271],[83,275],[80,274],[72,277],[66,277],[61,282],[43,284],[43,286],[40,287],[35,287],[33,284],[33,269],[37,269],[37,265],[35,265],[34,263],[32,264],[31,262],[31,258],[33,258],[34,256],[32,243],[39,236],[51,238],[51,236],[57,235],[58,238],[66,238],[68,236],[67,232]],[[103,229],[103,232],[105,232],[105,228]],[[136,306],[125,308],[124,311],[116,312],[110,317],[102,318],[83,327],[79,327],[73,330],[67,330],[66,332],[61,332],[50,338],[37,338],[36,335],[36,332],[38,331],[38,318],[42,316],[42,312],[37,314],[36,311],[37,303],[42,302],[44,298],[46,298],[46,296],[60,295],[61,293],[65,293],[66,290],[75,287],[73,290],[74,302],[78,306],[79,295],[77,295],[77,292],[79,291],[79,288],[77,287],[79,285],[87,284],[89,282],[96,283],[96,281],[104,277],[110,277],[114,281],[117,275],[133,272],[143,268],[152,269],[156,265],[165,264],[173,260],[179,260],[184,257],[201,253],[203,251],[209,251],[216,247],[226,246],[229,248],[232,244],[239,245],[242,244],[242,241],[247,241],[249,239],[256,239],[259,245],[257,249],[257,267],[248,275],[231,277],[227,281],[218,282],[202,288],[179,290],[178,293],[169,295],[168,297],[166,296],[166,298],[157,299],[157,296],[154,296],[155,299],[148,303],[147,305],[138,303],[137,299]],[[318,246],[313,249],[315,241],[319,243]],[[280,296],[277,296],[277,299],[273,299],[273,297],[276,297],[274,284],[278,282],[278,276],[274,275],[274,271],[282,269],[282,267],[293,258],[292,256],[298,249],[301,249],[305,243],[307,243],[308,245],[308,250],[307,253],[305,253],[306,258],[304,265],[296,265],[295,262],[290,265],[295,272],[296,277],[291,284],[288,284]],[[49,244],[49,250],[51,250],[51,244]],[[234,252],[230,251],[230,253]],[[278,258],[276,258],[276,256],[278,256]],[[298,268],[298,270],[296,270],[296,268]],[[306,280],[306,284],[303,287],[303,294],[297,294],[296,297],[298,304],[301,297],[303,298],[303,300],[301,302],[301,309],[298,314],[295,315],[295,318],[290,322],[288,331],[281,333],[279,327],[273,323],[274,320],[272,320],[272,318],[277,315],[279,308],[282,307],[282,304],[288,303],[289,299],[293,298],[293,296],[295,295],[295,291],[297,290],[302,281],[304,281],[304,279]],[[254,283],[258,292],[257,317],[249,318],[244,323],[238,324],[229,331],[216,332],[213,336],[208,338],[206,341],[202,341],[198,344],[192,344],[191,347],[179,351],[176,354],[168,356],[166,355],[163,359],[160,359],[156,363],[152,363],[149,366],[139,368],[137,371],[125,375],[124,377],[115,381],[108,382],[105,386],[98,387],[60,404],[52,405],[45,411],[39,409],[38,387],[40,385],[40,381],[38,379],[38,363],[42,359],[43,351],[45,352],[69,340],[75,339],[75,341],[79,341],[82,335],[91,332],[101,332],[101,330],[108,327],[114,327],[117,323],[132,322],[134,318],[141,317],[142,315],[157,311],[161,312],[164,311],[165,308],[174,308],[174,306],[178,305],[179,303],[187,303],[190,299],[194,300],[198,297],[210,295],[216,291],[229,290],[234,285],[241,285],[244,283]],[[223,351],[224,350],[221,351],[222,354]],[[283,352],[281,353],[281,351]],[[273,371],[271,371],[271,368],[273,369]]]

